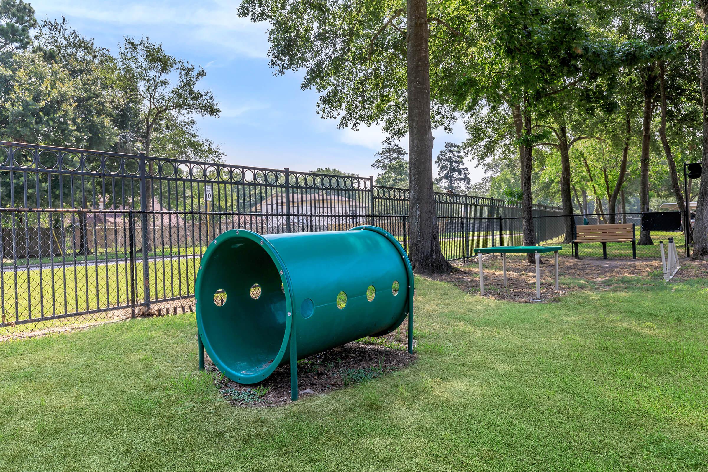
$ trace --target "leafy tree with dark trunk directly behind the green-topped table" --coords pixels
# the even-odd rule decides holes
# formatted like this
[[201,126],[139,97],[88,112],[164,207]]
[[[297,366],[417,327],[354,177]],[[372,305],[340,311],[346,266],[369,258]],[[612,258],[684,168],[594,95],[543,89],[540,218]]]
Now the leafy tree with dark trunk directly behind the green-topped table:
[[[562,4],[508,0],[484,4],[476,32],[479,45],[458,88],[469,112],[505,110],[518,146],[524,244],[534,246],[532,214],[533,148],[547,142],[539,127],[547,101],[583,80],[582,60],[593,54],[577,12]],[[484,93],[480,102],[479,91]],[[528,262],[534,262],[533,255]]]

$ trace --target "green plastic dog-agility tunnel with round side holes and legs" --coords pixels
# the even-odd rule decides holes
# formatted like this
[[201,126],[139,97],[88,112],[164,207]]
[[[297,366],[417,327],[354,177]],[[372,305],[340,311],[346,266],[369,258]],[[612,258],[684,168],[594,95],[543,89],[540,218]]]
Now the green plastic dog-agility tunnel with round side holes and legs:
[[226,231],[202,257],[195,297],[200,345],[216,367],[239,384],[256,384],[290,363],[293,400],[291,359],[385,335],[409,313],[412,350],[411,263],[399,241],[376,226]]

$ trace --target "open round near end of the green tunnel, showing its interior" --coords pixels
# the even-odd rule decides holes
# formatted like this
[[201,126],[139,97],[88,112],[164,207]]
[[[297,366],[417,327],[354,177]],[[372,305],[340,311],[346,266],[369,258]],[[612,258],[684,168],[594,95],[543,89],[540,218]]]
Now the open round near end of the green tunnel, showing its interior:
[[289,333],[285,279],[272,252],[248,231],[229,231],[202,258],[202,341],[212,362],[244,384],[278,367]]

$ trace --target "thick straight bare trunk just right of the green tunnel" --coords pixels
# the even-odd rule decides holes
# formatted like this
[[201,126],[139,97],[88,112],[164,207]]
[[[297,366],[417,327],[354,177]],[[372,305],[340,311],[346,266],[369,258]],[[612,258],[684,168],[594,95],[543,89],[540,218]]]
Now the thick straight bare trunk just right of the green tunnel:
[[406,66],[408,69],[408,130],[411,242],[409,258],[418,273],[451,272],[440,251],[433,193],[433,131],[430,127],[430,59],[428,4],[408,0]]

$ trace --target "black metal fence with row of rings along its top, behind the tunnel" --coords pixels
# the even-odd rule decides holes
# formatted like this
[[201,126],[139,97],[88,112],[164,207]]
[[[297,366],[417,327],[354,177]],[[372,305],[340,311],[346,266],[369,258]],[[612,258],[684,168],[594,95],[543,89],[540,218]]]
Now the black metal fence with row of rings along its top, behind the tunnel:
[[[353,177],[0,142],[0,337],[192,309],[217,234],[381,226],[407,249],[408,190]],[[435,194],[449,260],[516,241],[520,208]],[[534,205],[537,218],[559,209]],[[518,234],[515,233],[518,231]],[[539,229],[539,242],[561,236]]]

